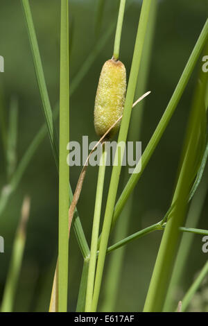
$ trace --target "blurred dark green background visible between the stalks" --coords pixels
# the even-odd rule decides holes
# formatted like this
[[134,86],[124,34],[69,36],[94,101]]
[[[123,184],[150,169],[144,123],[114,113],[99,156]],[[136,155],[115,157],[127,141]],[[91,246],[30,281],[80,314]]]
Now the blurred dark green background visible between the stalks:
[[[126,11],[123,23],[120,55],[128,76],[141,8],[141,1],[130,2],[132,5]],[[31,0],[30,3],[46,84],[51,105],[54,107],[59,96],[60,1]],[[116,22],[118,3],[116,0],[105,1],[101,33],[96,36],[94,17],[97,0],[69,1],[71,80],[76,76],[86,56],[94,49],[94,44],[99,37],[107,31],[107,27],[112,22]],[[182,74],[202,26],[205,24],[207,12],[207,0],[159,1],[147,87],[152,94],[146,100],[141,137],[138,139],[142,141],[143,150],[173,94],[175,85]],[[101,67],[105,60],[112,57],[113,43],[114,33],[106,42],[85,78],[78,85],[76,92],[71,96],[71,140],[81,141],[83,135],[88,135],[89,141],[96,140],[93,123],[94,98]],[[5,72],[0,74],[0,99],[6,120],[8,120],[12,96],[17,96],[19,103],[17,139],[19,162],[44,123],[21,1],[0,0],[0,55],[3,55],[5,60]],[[135,203],[128,234],[156,223],[169,207],[197,73],[198,67],[191,76],[171,123],[169,123],[164,137],[159,142],[157,150],[135,189]],[[2,189],[7,182],[2,143],[0,144],[0,153],[0,189]],[[89,167],[78,203],[78,212],[88,242],[91,237],[97,171],[97,167]],[[71,168],[72,189],[76,187],[79,173],[80,167],[73,166]],[[107,189],[109,178],[110,168],[108,167],[105,189]],[[122,188],[121,175],[119,194],[121,194]],[[21,203],[26,194],[31,196],[31,214],[15,300],[15,311],[47,311],[58,246],[58,173],[48,137],[38,148],[17,191],[10,197],[9,203],[1,215],[0,235],[5,239],[5,253],[0,254],[0,301],[15,230],[19,221]],[[105,199],[106,195],[105,191]],[[206,200],[200,218],[200,228],[206,229],[208,226],[207,209]],[[116,311],[139,311],[142,309],[161,235],[159,232],[149,234],[126,247]],[[187,268],[184,271],[181,291],[186,291],[194,275],[207,259],[208,254],[202,253],[201,250],[202,238],[196,235],[194,239]],[[107,261],[108,259],[109,257],[107,257]],[[74,232],[71,232],[69,311],[73,311],[76,307],[82,266],[83,259]]]

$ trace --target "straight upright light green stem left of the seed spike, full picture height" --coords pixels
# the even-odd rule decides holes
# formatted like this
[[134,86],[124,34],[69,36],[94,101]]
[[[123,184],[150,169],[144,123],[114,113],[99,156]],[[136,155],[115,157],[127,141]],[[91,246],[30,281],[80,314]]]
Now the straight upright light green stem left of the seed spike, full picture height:
[[61,1],[60,27],[60,153],[59,153],[59,233],[58,233],[58,311],[67,311],[68,289],[68,211],[69,166],[69,8]]

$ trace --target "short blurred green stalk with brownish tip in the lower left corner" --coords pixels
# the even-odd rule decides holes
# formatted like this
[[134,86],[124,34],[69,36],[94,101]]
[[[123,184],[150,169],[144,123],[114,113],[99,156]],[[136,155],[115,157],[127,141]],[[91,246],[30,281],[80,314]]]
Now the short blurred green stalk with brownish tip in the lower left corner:
[[31,200],[24,198],[21,207],[21,218],[17,227],[15,241],[12,248],[12,256],[6,279],[6,286],[3,292],[3,300],[1,304],[1,312],[11,312],[15,301],[15,293],[19,282],[19,274],[21,271],[21,263],[24,255],[26,242],[26,225],[30,212]]

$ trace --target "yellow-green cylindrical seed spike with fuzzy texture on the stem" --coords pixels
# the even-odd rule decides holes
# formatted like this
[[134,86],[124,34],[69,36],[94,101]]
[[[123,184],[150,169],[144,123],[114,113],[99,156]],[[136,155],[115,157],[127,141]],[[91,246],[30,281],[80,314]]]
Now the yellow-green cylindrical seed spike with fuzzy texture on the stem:
[[[94,128],[102,137],[123,113],[125,101],[126,74],[121,61],[107,60],[101,71],[94,106]],[[112,128],[108,138],[119,130],[120,123]]]

